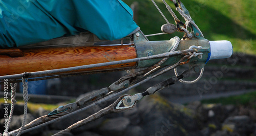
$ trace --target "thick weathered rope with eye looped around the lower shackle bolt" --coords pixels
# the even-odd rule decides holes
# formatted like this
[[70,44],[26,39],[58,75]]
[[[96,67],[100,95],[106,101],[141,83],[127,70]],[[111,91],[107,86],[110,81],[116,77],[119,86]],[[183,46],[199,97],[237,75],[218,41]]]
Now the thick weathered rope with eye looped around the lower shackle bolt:
[[76,122],[75,124],[69,126],[65,130],[62,130],[62,131],[54,134],[54,136],[63,135],[65,133],[67,133],[67,132],[70,132],[73,129],[76,129],[76,128],[82,126],[82,125],[85,125],[85,124],[90,123],[90,122],[92,122],[92,121],[94,121],[96,119],[99,119],[99,118],[101,118],[104,115],[108,115],[108,114],[111,114],[111,113],[126,112],[126,111],[129,111],[129,110],[132,110],[134,108],[134,106],[136,105],[136,102],[131,107],[123,108],[123,109],[116,109],[117,103],[119,103],[123,99],[124,96],[126,96],[126,95],[122,95],[113,104],[109,105],[108,107],[103,108],[99,112],[97,112],[97,113],[87,117],[86,119],[83,119],[83,120],[80,120],[80,121]]

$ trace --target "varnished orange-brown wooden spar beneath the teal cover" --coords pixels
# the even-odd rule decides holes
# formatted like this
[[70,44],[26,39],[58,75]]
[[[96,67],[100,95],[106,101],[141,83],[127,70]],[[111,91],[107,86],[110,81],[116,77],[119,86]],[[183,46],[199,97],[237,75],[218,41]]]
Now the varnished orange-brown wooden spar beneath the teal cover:
[[[136,49],[132,44],[117,46],[47,47],[20,50],[23,51],[24,57],[12,58],[7,55],[0,55],[0,76],[120,61],[137,57]],[[134,66],[136,66],[136,62],[83,69],[68,73],[121,69]]]

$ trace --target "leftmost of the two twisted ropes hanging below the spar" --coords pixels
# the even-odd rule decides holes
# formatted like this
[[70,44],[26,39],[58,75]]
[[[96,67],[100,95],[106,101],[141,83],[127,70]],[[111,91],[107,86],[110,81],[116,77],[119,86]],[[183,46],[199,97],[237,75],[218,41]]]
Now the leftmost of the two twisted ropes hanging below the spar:
[[11,103],[11,110],[10,110],[10,115],[9,115],[9,119],[8,119],[8,123],[7,123],[7,132],[8,132],[9,126],[10,126],[11,121],[12,121],[14,104],[17,102],[15,100],[17,83],[14,83],[14,84],[11,83],[10,85],[11,85],[11,92],[12,92],[12,95],[11,95],[11,102],[12,103]]

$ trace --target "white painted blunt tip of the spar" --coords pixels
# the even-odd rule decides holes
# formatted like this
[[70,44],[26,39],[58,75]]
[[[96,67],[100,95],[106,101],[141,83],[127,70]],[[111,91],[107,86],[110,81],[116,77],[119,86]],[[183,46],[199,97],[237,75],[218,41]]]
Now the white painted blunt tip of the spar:
[[233,53],[233,46],[230,41],[209,41],[210,42],[210,60],[226,59]]

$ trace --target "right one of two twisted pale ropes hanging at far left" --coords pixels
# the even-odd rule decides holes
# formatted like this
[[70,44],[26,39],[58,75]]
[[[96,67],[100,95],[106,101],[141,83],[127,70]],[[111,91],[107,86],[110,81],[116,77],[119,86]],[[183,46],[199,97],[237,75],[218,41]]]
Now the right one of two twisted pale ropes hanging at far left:
[[22,83],[23,83],[24,115],[23,115],[22,126],[19,128],[17,136],[22,134],[22,131],[25,126],[26,118],[27,118],[27,111],[28,111],[28,78],[22,77]]

